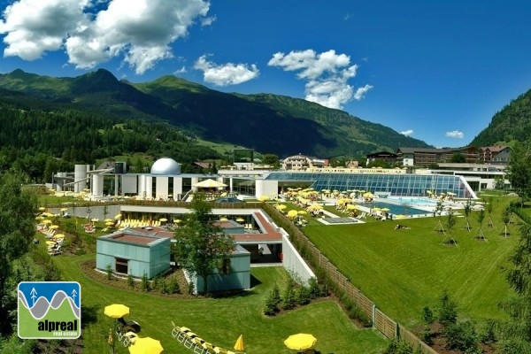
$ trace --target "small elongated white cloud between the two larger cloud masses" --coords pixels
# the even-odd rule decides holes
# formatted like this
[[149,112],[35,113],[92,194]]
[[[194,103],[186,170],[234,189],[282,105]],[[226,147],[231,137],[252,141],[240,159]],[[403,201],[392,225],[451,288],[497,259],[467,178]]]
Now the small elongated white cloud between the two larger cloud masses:
[[227,63],[217,65],[201,56],[196,60],[194,69],[203,71],[204,81],[217,86],[237,85],[258,77],[257,65]]

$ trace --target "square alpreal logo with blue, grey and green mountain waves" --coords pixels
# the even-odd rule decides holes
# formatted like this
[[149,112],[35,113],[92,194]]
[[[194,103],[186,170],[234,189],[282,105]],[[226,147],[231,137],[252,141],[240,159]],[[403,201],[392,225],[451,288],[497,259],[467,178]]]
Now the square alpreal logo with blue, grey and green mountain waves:
[[19,283],[19,337],[76,339],[81,335],[81,285],[77,281]]

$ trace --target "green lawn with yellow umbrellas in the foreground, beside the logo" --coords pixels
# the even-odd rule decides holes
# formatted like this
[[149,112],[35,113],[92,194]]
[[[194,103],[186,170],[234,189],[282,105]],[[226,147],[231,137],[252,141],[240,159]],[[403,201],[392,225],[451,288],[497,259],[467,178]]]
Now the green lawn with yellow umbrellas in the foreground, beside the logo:
[[[387,341],[372,329],[357,329],[333,301],[313,303],[274,318],[262,315],[266,297],[275,283],[282,286],[288,274],[281,267],[252,268],[258,285],[244,296],[227,298],[171,299],[150,293],[129,290],[116,291],[92,280],[81,272],[82,260],[94,258],[60,256],[54,258],[65,281],[79,281],[82,291],[83,352],[108,352],[106,342],[112,319],[104,315],[107,304],[126,304],[142,325],[141,336],[158,339],[167,353],[190,353],[171,336],[173,320],[193,329],[204,340],[227,349],[243,335],[248,353],[293,353],[283,341],[288,335],[312,333],[318,338],[316,349],[322,353],[379,353]],[[116,351],[127,353],[123,347]]]

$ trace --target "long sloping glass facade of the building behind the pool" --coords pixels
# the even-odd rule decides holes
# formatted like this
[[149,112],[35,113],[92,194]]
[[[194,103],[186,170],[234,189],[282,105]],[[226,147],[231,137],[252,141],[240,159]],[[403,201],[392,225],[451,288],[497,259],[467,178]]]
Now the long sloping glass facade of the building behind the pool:
[[464,178],[446,174],[272,172],[266,180],[279,181],[279,186],[293,185],[294,181],[301,185],[311,183],[315,190],[358,189],[391,196],[427,196],[430,190],[435,195],[450,192],[458,198],[476,198]]

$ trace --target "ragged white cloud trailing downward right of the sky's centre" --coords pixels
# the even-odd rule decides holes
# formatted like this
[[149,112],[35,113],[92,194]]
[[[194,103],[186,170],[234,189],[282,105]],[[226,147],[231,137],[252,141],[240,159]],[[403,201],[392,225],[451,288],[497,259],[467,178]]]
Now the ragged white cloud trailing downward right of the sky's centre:
[[336,54],[335,50],[278,52],[267,65],[281,67],[284,71],[298,71],[296,76],[306,81],[306,100],[329,108],[342,109],[343,104],[352,99],[360,100],[373,89],[371,85],[355,89],[348,84],[356,76],[358,65],[350,65],[350,57]]

